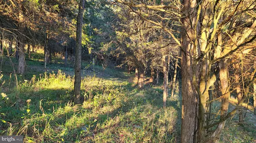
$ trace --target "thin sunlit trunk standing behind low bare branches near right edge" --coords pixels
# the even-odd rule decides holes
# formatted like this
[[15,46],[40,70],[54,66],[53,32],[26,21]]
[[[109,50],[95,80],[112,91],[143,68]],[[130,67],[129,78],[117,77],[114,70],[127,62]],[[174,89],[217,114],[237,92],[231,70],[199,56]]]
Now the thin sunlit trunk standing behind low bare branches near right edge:
[[[241,93],[241,87],[240,87],[240,83],[239,83],[239,74],[236,73],[235,74],[235,78],[236,78],[236,97],[237,97],[237,102],[238,104],[241,102],[242,99],[242,93]],[[244,115],[243,115],[243,109],[239,108],[238,109],[239,112],[239,124],[244,122]]]

